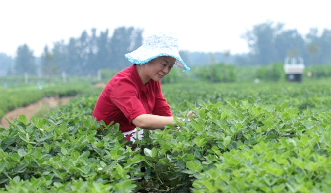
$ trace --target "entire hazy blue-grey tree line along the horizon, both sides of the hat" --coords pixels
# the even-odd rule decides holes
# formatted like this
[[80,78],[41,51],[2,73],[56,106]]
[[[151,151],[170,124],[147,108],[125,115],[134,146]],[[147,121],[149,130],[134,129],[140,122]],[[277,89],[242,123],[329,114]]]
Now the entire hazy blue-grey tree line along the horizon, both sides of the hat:
[[[96,74],[99,69],[121,70],[130,65],[124,55],[141,46],[143,29],[134,27],[116,28],[110,36],[108,29],[97,34],[95,28],[80,37],[53,43],[44,47],[41,57],[24,44],[17,48],[15,58],[0,53],[0,71],[9,74],[43,73],[65,71],[68,74]],[[190,66],[219,62],[237,65],[257,65],[283,62],[285,57],[302,57],[304,64],[331,64],[331,30],[319,32],[311,28],[305,35],[296,29],[284,29],[283,23],[266,21],[254,25],[243,33],[249,52],[233,54],[231,50],[216,53],[180,51],[183,60]]]

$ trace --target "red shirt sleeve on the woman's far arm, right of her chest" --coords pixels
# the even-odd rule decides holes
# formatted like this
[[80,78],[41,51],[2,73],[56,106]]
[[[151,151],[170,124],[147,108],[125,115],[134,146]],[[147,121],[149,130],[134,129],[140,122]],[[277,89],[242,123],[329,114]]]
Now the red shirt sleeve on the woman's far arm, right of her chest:
[[157,82],[157,91],[155,95],[155,106],[152,111],[153,115],[161,115],[161,116],[172,116],[172,112],[169,104],[166,102],[162,91],[161,91],[161,83]]

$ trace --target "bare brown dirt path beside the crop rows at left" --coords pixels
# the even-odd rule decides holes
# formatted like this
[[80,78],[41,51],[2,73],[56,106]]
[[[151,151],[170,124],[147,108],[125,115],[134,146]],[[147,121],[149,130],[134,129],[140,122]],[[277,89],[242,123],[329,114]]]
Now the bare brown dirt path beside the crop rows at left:
[[26,107],[21,107],[18,109],[15,109],[13,111],[8,112],[5,116],[2,117],[0,120],[0,125],[2,125],[4,128],[9,127],[9,123],[6,119],[8,119],[10,122],[14,121],[14,118],[18,118],[19,115],[24,114],[28,120],[31,119],[32,116],[36,115],[38,111],[41,110],[43,106],[49,107],[49,109],[56,108],[61,105],[65,105],[69,102],[70,98],[72,97],[62,97],[62,98],[55,98],[55,97],[47,97],[43,98],[38,102],[35,102],[33,104],[30,104]]

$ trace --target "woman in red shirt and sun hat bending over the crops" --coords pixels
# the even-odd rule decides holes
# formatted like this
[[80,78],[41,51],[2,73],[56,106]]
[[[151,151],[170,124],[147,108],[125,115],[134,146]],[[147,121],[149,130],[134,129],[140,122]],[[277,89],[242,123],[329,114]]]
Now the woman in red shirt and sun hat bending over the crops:
[[178,38],[173,32],[155,32],[141,47],[125,57],[133,64],[117,73],[101,92],[93,117],[107,125],[120,124],[126,140],[142,139],[142,129],[163,129],[173,123],[160,80],[174,65],[189,71],[178,53]]

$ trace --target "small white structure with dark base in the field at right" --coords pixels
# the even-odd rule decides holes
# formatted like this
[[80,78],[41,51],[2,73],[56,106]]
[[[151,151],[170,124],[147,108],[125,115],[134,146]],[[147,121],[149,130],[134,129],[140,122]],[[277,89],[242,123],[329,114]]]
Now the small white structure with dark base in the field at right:
[[284,72],[286,80],[292,82],[301,82],[304,71],[304,64],[302,57],[286,57],[284,61]]

